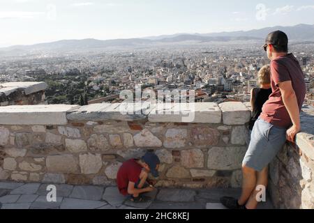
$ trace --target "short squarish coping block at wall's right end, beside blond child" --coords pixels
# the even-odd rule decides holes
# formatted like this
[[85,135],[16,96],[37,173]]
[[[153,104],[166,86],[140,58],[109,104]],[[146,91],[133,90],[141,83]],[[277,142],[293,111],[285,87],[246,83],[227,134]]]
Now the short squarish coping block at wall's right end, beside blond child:
[[244,125],[251,119],[251,110],[242,102],[223,102],[219,107],[225,125]]

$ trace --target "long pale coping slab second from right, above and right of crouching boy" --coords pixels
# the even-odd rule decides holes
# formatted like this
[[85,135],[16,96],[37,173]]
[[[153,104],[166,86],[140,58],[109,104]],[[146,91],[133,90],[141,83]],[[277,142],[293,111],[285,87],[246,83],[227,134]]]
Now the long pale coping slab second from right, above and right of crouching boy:
[[150,122],[155,123],[221,123],[221,111],[216,103],[193,105],[158,104],[149,113],[148,118]]

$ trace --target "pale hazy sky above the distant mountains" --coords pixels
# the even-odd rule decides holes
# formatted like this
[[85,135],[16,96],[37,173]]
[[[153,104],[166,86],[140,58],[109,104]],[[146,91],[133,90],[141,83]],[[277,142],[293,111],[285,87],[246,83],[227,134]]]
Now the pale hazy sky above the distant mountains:
[[314,0],[0,0],[0,47],[314,24]]

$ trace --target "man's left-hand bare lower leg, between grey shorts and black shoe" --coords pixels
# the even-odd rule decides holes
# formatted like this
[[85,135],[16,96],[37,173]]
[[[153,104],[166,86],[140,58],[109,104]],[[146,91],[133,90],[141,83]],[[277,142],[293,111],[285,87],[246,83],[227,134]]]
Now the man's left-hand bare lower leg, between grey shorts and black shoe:
[[248,199],[250,199],[253,190],[256,187],[256,171],[245,165],[242,167],[242,193],[241,197],[238,199],[238,204],[244,206]]

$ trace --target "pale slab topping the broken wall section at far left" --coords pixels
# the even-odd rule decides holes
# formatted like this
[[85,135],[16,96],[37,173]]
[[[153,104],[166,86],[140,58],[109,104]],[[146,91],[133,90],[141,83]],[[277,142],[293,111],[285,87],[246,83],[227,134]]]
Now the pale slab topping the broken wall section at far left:
[[47,89],[47,84],[45,82],[8,82],[0,84],[0,93],[4,93],[6,96],[19,89],[24,91],[25,95],[30,95]]

